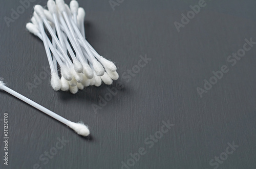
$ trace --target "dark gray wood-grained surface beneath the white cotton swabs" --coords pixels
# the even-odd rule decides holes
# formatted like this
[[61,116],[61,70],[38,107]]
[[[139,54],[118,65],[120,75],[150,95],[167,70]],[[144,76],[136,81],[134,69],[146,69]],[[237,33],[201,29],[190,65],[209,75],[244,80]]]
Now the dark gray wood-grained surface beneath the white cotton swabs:
[[[69,3],[69,1],[66,1]],[[121,161],[140,147],[146,154],[130,168],[214,168],[211,159],[234,142],[239,148],[218,168],[256,168],[256,46],[231,66],[228,55],[256,41],[256,2],[207,1],[180,33],[174,22],[198,1],[125,0],[112,10],[109,1],[79,1],[86,9],[88,41],[104,57],[116,62],[120,76],[138,64],[140,55],[152,61],[131,79],[120,77],[124,88],[97,114],[92,104],[108,93],[108,86],[89,87],[76,95],[54,92],[49,77],[30,92],[28,82],[48,61],[44,45],[25,25],[35,1],[8,27],[18,1],[0,2],[0,76],[13,90],[74,122],[90,126],[82,138],[22,101],[1,92],[0,119],[9,114],[9,165],[3,164],[3,121],[0,121],[0,168],[121,168]],[[197,87],[212,71],[227,65],[214,87],[200,98]],[[114,87],[117,81],[114,83]],[[160,130],[162,121],[174,126],[152,148],[144,140]],[[45,165],[39,159],[59,138],[69,140]]]

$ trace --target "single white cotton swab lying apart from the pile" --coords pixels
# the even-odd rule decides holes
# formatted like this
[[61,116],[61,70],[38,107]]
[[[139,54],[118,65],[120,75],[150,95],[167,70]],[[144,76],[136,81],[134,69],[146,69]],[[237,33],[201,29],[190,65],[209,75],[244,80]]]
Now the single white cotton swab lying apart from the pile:
[[69,126],[70,128],[72,128],[77,134],[82,135],[82,136],[88,136],[90,134],[90,131],[88,129],[88,127],[82,123],[74,123],[71,122],[57,114],[55,114],[55,112],[37,104],[36,102],[26,98],[25,96],[13,91],[12,89],[8,88],[5,86],[5,83],[3,81],[0,81],[0,90],[6,91],[7,93],[15,96],[16,98],[30,104],[31,106],[37,108],[38,110],[44,112],[45,114],[51,116],[52,118],[58,120],[59,122]]

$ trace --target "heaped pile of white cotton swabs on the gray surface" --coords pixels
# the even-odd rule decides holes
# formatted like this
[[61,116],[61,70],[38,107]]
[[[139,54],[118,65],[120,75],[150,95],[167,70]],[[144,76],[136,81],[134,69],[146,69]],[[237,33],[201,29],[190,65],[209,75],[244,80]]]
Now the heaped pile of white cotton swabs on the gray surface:
[[119,75],[115,64],[99,55],[86,40],[83,24],[86,13],[79,8],[77,1],[72,0],[69,7],[63,0],[56,0],[56,3],[49,0],[47,6],[48,10],[36,5],[31,23],[26,27],[44,42],[52,88],[55,91],[70,90],[75,94],[78,89],[99,87],[102,81],[111,85],[117,80]]

